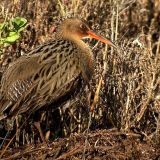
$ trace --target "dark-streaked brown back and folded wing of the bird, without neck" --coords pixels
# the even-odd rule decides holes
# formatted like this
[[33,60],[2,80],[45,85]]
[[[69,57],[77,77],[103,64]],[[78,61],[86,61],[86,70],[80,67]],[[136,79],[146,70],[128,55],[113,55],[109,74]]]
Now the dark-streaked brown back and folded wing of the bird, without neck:
[[[62,48],[56,47],[60,44]],[[65,40],[50,42],[12,63],[2,80],[2,94],[12,105],[1,106],[0,112],[23,113],[32,109],[34,103],[34,107],[40,108],[65,95],[72,87],[70,82],[80,74],[78,60],[71,54],[76,54],[77,49],[68,49],[69,45]]]

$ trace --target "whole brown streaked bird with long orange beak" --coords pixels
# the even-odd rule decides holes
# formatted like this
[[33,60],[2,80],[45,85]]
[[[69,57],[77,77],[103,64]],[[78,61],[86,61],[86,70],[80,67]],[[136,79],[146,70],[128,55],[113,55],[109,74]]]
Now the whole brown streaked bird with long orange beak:
[[2,78],[0,119],[27,112],[33,113],[65,96],[82,75],[89,81],[94,72],[94,57],[81,40],[97,36],[80,19],[66,19],[58,29],[56,40],[36,47],[13,62]]

